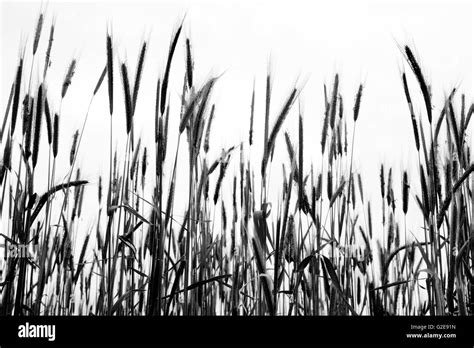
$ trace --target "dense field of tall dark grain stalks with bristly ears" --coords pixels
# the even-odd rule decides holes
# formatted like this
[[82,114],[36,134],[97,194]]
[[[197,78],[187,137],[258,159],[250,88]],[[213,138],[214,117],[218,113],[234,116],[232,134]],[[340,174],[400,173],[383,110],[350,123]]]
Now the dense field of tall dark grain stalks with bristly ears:
[[[412,127],[407,141],[417,170],[398,173],[381,164],[379,182],[364,181],[354,148],[365,84],[345,96],[339,74],[324,84],[322,127],[314,135],[319,146],[308,148],[304,81],[277,100],[278,80],[268,68],[265,89],[254,84],[249,99],[238,101],[249,106],[242,121],[248,137],[211,151],[210,139],[220,131],[213,128],[220,117],[213,93],[226,75],[195,81],[185,23],[162,47],[167,59],[154,90],[140,88],[152,39],[129,52],[137,57],[131,64],[116,54],[112,28],[104,30],[102,63],[90,99],[82,101],[87,112],[64,144],[62,108],[78,61],[71,59],[61,81],[50,79],[60,48],[54,18],[39,13],[34,36],[11,67],[15,78],[1,122],[0,226],[7,226],[0,232],[1,315],[472,315],[469,97],[452,89],[434,101],[429,67],[422,68],[414,47],[401,44],[406,114],[400,122]],[[179,59],[185,60],[182,85],[170,86]],[[50,97],[51,85],[61,86],[59,100]],[[171,103],[176,89],[180,105]],[[102,135],[109,146],[96,151],[108,163],[91,180],[81,174],[87,161],[77,158],[99,94],[108,98]],[[150,143],[134,128],[142,94],[156,96],[147,114]],[[264,114],[256,111],[257,98]],[[297,118],[288,120],[290,113]],[[254,131],[257,118],[264,120],[263,134]],[[118,119],[126,127],[117,134]],[[169,126],[171,119],[178,127]],[[286,131],[288,122],[297,124],[297,136]],[[112,139],[126,150],[117,151]],[[286,148],[283,157],[274,156],[277,142]],[[261,156],[252,151],[256,146]],[[63,153],[67,160],[58,160]],[[309,153],[318,160],[312,163]],[[365,194],[374,186],[381,205]],[[86,195],[96,197],[97,209],[83,206]],[[408,213],[422,226],[412,225]]]

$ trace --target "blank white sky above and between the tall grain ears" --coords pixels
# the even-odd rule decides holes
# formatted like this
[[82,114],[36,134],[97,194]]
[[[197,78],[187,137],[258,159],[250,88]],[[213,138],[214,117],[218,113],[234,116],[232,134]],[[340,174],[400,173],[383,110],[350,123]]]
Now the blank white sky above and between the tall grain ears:
[[[20,43],[28,39],[27,50],[31,50],[40,5],[40,2],[1,2],[2,117],[16,71]],[[135,70],[142,40],[150,38],[135,129],[147,145],[152,144],[156,79],[164,70],[171,33],[186,14],[183,33],[190,36],[193,44],[198,84],[210,74],[225,71],[214,94],[216,118],[211,135],[214,156],[219,154],[223,146],[247,140],[250,97],[255,77],[256,145],[252,149],[252,157],[260,160],[264,77],[271,56],[274,72],[272,120],[296,78],[300,76],[301,80],[307,79],[302,93],[305,151],[308,158],[305,161],[308,163],[311,158],[318,166],[324,111],[323,83],[332,86],[334,73],[337,72],[340,75],[345,110],[351,115],[358,85],[360,82],[365,83],[354,150],[355,169],[362,172],[366,196],[372,196],[375,201],[373,209],[378,209],[380,204],[376,203],[376,199],[379,196],[381,162],[394,166],[397,196],[400,194],[397,188],[403,168],[416,173],[413,133],[400,80],[401,67],[406,65],[397,43],[408,43],[415,47],[423,70],[432,84],[436,117],[443,96],[454,86],[459,86],[466,94],[468,104],[472,103],[473,8],[469,1],[50,1],[47,3],[39,53],[42,71],[49,25],[54,15],[56,31],[48,95],[55,109],[59,106],[61,83],[70,60],[79,57],[76,74],[62,108],[63,133],[60,144],[64,149],[60,150],[59,163],[67,162],[72,134],[82,125],[89,97],[105,65],[108,22],[113,26],[116,53],[122,59],[128,57],[132,71]],[[181,38],[171,73],[174,79],[171,80],[170,92],[174,98],[172,103],[175,112],[184,71],[183,42]],[[25,66],[29,70],[30,62]],[[119,134],[125,137],[118,76],[116,81],[114,143],[117,143]],[[424,111],[420,103],[421,95],[411,73],[409,83],[412,97],[417,100],[416,110]],[[172,110],[171,115],[176,113]],[[99,174],[108,171],[108,120],[104,84],[92,107],[78,162],[83,176],[91,182],[96,182]],[[170,127],[170,131],[176,134],[176,117]],[[296,113],[289,116],[283,131],[285,129],[296,134]],[[469,139],[472,142],[472,136]],[[176,138],[170,140],[169,158],[172,156],[171,150],[175,148]],[[284,150],[281,151],[280,159],[287,162],[282,140],[283,137],[277,149]],[[124,146],[124,142],[119,143]],[[40,154],[40,160],[47,161],[46,151]],[[234,160],[238,161],[237,154]],[[183,170],[186,169],[185,164],[182,166]],[[280,170],[279,166],[275,168]],[[64,175],[66,169],[58,167],[58,176]],[[309,167],[305,170],[309,170]],[[231,185],[229,175],[225,186],[230,188]],[[91,201],[94,201],[95,188],[90,192]],[[412,200],[410,204],[414,206],[414,203]]]

